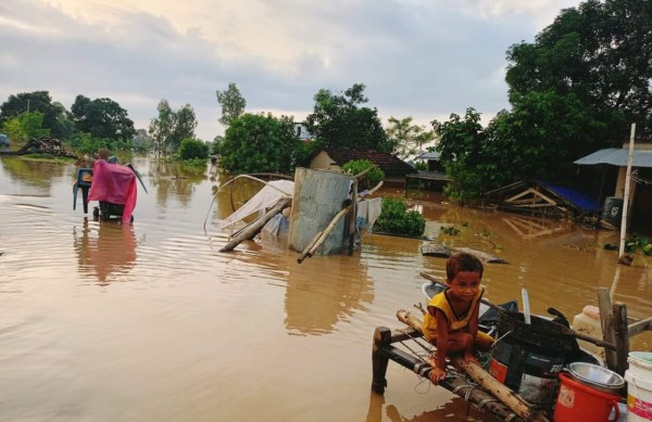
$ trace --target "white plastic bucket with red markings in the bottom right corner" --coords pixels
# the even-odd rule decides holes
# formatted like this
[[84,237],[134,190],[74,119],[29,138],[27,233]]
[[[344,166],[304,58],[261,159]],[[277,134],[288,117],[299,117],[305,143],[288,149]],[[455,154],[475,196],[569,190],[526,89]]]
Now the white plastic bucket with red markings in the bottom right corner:
[[627,422],[652,421],[652,353],[630,351],[627,358]]

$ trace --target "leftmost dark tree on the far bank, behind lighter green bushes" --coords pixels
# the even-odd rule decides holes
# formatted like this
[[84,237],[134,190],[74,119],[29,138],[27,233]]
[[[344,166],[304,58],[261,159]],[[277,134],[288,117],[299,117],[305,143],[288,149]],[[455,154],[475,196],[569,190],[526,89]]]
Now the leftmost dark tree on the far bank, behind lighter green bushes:
[[61,107],[61,103],[52,102],[48,91],[21,92],[10,95],[0,105],[0,125],[23,113],[40,112],[43,116],[42,128],[49,129],[54,138],[64,139],[70,135],[70,128],[61,120],[62,113],[65,114],[65,107],[63,111]]

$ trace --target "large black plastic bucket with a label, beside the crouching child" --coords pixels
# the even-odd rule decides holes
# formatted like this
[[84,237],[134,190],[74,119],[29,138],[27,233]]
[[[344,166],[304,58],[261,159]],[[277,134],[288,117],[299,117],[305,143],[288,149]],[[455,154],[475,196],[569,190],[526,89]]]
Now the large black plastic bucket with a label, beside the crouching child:
[[544,318],[532,316],[527,324],[521,312],[501,312],[489,372],[530,404],[550,407],[557,375],[575,345],[564,329]]

